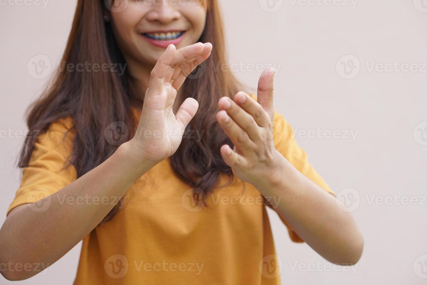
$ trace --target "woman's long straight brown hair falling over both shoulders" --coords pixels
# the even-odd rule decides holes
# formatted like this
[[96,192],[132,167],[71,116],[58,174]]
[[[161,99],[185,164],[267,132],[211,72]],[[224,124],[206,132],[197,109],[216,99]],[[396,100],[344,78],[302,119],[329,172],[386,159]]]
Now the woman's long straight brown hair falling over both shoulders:
[[[109,1],[111,2],[111,0]],[[85,62],[124,66],[126,64],[114,38],[111,22],[103,19],[105,0],[79,0],[70,36],[61,60],[62,64]],[[239,91],[239,83],[230,71],[218,68],[225,63],[225,42],[222,18],[217,0],[205,0],[207,8],[205,30],[199,41],[211,42],[213,51],[181,87],[184,94],[199,102],[199,110],[187,128],[199,130],[202,137],[183,138],[170,163],[175,174],[193,188],[205,193],[212,191],[231,168],[221,158],[219,148],[231,141],[216,122],[217,102],[222,96],[231,97]],[[73,126],[73,150],[66,165],[73,165],[80,177],[110,157],[117,145],[105,139],[104,129],[112,122],[123,122],[129,135],[135,135],[136,121],[132,107],[143,104],[137,92],[132,92],[131,78],[126,72],[56,71],[53,83],[29,107],[27,125],[30,131],[47,130],[51,123],[70,117]],[[203,131],[203,132],[202,132]],[[19,167],[27,167],[36,138],[28,136],[20,153]],[[124,142],[124,141],[123,141]],[[116,205],[103,221],[117,212]]]

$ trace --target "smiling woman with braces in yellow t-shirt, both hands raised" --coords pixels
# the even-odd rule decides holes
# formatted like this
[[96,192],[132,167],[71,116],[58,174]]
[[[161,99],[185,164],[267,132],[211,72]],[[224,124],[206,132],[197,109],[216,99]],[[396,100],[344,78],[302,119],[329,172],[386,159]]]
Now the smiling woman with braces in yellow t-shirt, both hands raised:
[[274,71],[254,97],[215,68],[217,1],[105,2],[79,0],[61,62],[92,69],[60,69],[30,109],[44,136],[0,230],[0,261],[30,265],[3,276],[83,239],[74,284],[280,284],[266,205],[292,241],[356,263],[363,238],[275,113]]

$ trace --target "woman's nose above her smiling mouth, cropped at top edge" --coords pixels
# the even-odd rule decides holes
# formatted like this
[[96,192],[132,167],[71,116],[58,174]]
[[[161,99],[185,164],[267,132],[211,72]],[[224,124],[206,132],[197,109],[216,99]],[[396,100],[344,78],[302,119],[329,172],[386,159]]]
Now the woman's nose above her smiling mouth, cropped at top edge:
[[151,10],[147,13],[146,18],[150,22],[157,21],[161,24],[168,24],[171,21],[178,20],[181,17],[181,13],[175,7],[177,5],[175,1],[170,3],[168,0],[154,0],[150,4]]

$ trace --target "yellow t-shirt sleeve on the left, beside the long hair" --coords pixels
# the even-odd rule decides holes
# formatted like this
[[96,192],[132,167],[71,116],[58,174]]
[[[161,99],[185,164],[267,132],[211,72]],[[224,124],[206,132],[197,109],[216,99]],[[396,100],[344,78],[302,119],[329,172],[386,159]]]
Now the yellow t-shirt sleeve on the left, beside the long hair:
[[72,165],[65,168],[73,145],[72,132],[67,133],[70,126],[71,119],[63,118],[38,134],[29,165],[22,169],[20,187],[6,215],[16,206],[35,203],[77,179]]

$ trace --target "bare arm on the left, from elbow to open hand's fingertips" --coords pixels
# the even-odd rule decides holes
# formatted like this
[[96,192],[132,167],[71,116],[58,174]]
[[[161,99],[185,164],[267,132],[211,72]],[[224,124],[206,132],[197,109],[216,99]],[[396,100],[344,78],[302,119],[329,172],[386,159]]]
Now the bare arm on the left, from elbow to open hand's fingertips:
[[[112,203],[62,203],[56,195],[120,198],[146,171],[175,153],[182,139],[176,134],[184,132],[198,108],[196,100],[187,98],[174,115],[172,105],[177,90],[211,50],[209,43],[179,50],[173,45],[167,48],[151,73],[136,132],[139,135],[122,144],[101,165],[46,197],[51,204],[44,211],[34,211],[32,204],[13,209],[0,229],[0,264],[41,263],[47,267],[88,235],[114,207]],[[141,130],[155,133],[164,131],[165,126],[170,131],[166,136],[141,136]],[[4,269],[0,268],[0,273],[9,280],[27,279],[38,273]]]

